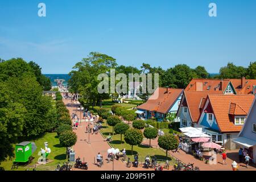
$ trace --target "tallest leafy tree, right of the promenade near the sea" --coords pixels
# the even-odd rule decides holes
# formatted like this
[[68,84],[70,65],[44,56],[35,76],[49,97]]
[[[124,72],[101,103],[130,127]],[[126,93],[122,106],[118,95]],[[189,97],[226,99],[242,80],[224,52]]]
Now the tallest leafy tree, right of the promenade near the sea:
[[101,82],[98,80],[98,75],[110,73],[110,69],[115,68],[116,65],[113,57],[90,52],[89,56],[77,63],[73,71],[69,73],[71,76],[68,82],[70,91],[80,93],[85,102],[92,105],[92,109],[95,105],[101,106],[102,100],[109,98],[109,94],[98,92],[97,87]]

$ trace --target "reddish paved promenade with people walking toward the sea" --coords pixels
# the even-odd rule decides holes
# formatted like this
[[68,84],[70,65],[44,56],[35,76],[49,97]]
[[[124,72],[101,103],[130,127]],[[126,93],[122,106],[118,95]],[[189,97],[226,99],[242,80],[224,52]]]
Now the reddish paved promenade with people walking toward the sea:
[[[74,110],[76,110],[76,105],[71,104],[70,100],[63,100],[64,104],[67,106],[69,113],[72,114]],[[80,113],[78,113],[80,114]],[[100,133],[93,135],[90,134],[90,143],[88,143],[89,135],[85,133],[86,126],[88,126],[88,122],[82,121],[81,124],[79,123],[79,127],[77,130],[73,130],[77,134],[77,142],[75,146],[73,146],[73,150],[76,152],[76,158],[80,156],[81,160],[84,162],[88,162],[89,170],[92,171],[112,171],[113,170],[113,162],[107,163],[107,151],[111,148],[108,142],[104,142],[104,138]],[[104,156],[104,165],[100,168],[96,164],[94,164],[94,158],[98,152]],[[96,160],[96,159],[95,159]],[[132,159],[133,161],[133,159]],[[97,163],[97,162],[96,162]],[[74,168],[74,170],[79,170]],[[127,170],[153,170],[153,169],[144,169],[141,166],[138,168],[127,168],[126,164],[123,163],[121,160],[114,160],[114,171],[127,171]]]

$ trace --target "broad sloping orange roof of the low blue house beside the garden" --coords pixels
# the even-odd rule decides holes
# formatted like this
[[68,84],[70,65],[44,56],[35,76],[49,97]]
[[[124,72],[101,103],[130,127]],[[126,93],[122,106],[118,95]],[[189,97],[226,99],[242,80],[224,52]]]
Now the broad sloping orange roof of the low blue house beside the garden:
[[[147,102],[139,105],[137,109],[157,111],[158,113],[166,114],[182,93],[183,89],[158,88],[152,96],[148,98]],[[159,95],[155,98],[157,94]]]

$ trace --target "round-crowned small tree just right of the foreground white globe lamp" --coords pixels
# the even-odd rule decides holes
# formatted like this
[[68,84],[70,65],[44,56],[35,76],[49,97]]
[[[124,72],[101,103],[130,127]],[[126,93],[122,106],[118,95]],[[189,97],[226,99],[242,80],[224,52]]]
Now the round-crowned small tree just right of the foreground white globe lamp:
[[133,146],[141,144],[143,140],[143,134],[141,130],[129,129],[125,133],[125,142],[131,145],[131,155],[133,155]]

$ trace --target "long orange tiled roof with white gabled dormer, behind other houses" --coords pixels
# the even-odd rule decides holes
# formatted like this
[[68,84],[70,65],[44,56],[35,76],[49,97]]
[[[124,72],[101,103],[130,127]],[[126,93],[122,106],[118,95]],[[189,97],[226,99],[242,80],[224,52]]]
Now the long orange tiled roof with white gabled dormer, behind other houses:
[[256,80],[193,78],[185,91],[217,91],[224,94],[255,94]]

